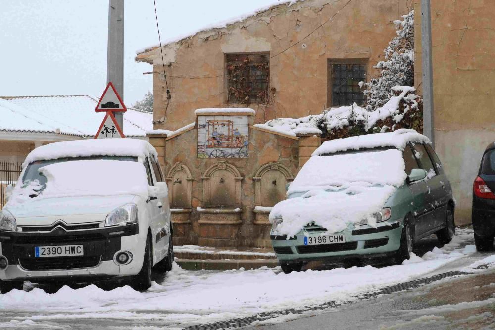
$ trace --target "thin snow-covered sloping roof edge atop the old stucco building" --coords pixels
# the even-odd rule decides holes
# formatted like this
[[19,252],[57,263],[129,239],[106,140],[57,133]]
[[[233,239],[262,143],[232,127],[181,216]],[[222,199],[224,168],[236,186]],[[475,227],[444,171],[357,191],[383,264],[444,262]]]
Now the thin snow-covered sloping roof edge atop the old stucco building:
[[[244,15],[240,15],[240,16],[235,17],[235,18],[227,19],[224,22],[219,22],[217,25],[206,26],[206,27],[201,28],[198,31],[190,32],[190,33],[188,33],[185,36],[183,35],[183,36],[179,36],[179,37],[173,38],[173,39],[171,39],[169,41],[164,42],[161,46],[162,47],[166,47],[166,46],[169,46],[169,45],[172,45],[172,44],[176,44],[176,43],[182,42],[184,40],[187,40],[187,39],[190,39],[190,38],[196,36],[198,33],[201,33],[201,32],[207,32],[207,31],[212,31],[213,32],[215,30],[229,28],[231,25],[236,24],[236,23],[242,24],[245,21],[247,21],[249,18],[256,17],[258,15],[264,15],[264,14],[266,14],[268,12],[271,12],[272,10],[275,10],[277,8],[280,8],[280,7],[285,6],[288,2],[289,2],[288,7],[290,7],[290,6],[292,6],[293,4],[295,4],[296,2],[299,2],[299,1],[305,1],[305,0],[279,0],[279,3],[273,4],[273,5],[270,5],[270,6],[266,6],[266,7],[261,7],[258,10],[256,10],[254,13],[251,12],[251,13],[247,13],[247,14],[244,14]],[[153,62],[152,59],[148,58],[147,55],[150,55],[149,54],[150,52],[152,52],[153,50],[155,50],[155,49],[157,49],[159,47],[160,47],[159,45],[152,45],[152,46],[148,46],[148,47],[145,47],[145,48],[136,50],[136,58],[135,58],[135,60],[137,62],[146,62],[146,63],[152,64],[152,62]]]

